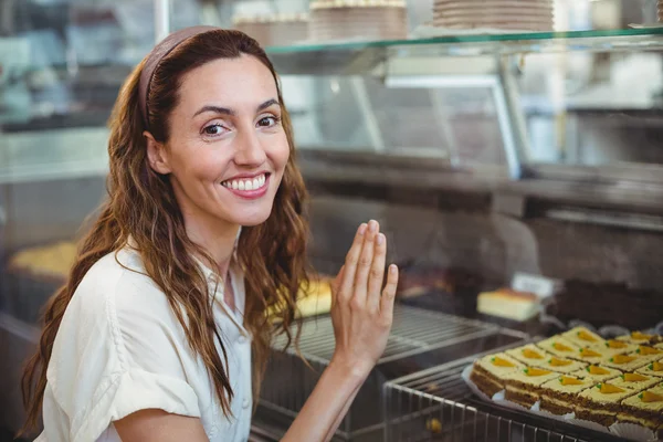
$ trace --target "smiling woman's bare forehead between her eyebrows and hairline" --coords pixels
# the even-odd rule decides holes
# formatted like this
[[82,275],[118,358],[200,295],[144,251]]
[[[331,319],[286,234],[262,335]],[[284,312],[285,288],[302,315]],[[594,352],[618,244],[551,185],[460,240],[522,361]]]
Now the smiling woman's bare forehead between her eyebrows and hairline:
[[203,104],[213,103],[240,110],[243,106],[254,109],[257,104],[277,98],[277,91],[267,66],[243,54],[236,59],[218,59],[188,72],[178,95],[178,107],[183,109],[197,110]]

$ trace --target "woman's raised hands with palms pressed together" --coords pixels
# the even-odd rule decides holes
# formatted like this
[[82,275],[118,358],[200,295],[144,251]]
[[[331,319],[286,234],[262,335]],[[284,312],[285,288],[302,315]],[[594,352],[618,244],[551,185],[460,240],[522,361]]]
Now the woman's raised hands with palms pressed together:
[[385,281],[387,238],[377,221],[357,230],[345,264],[334,281],[332,320],[336,350],[332,364],[367,376],[385,351],[393,319],[398,267]]

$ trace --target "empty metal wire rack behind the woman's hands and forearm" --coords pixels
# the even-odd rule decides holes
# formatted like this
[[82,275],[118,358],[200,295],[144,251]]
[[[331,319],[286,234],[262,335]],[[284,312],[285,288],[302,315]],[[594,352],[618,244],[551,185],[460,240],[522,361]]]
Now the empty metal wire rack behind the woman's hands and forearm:
[[[337,436],[368,441],[373,440],[370,434],[377,432],[376,440],[381,440],[382,386],[389,379],[421,369],[422,360],[430,367],[524,338],[525,334],[491,324],[397,306],[387,348],[359,390]],[[283,349],[284,345],[285,339],[280,338],[273,347]],[[334,328],[328,315],[304,322],[299,350],[306,361],[292,348],[273,355],[261,390],[262,409],[294,419],[329,364],[334,346]]]

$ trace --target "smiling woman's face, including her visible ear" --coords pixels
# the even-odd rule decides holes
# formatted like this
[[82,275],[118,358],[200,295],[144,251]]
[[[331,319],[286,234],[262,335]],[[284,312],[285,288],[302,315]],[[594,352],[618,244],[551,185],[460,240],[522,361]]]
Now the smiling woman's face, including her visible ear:
[[148,151],[152,168],[170,173],[188,224],[267,219],[290,155],[281,115],[274,77],[253,56],[217,60],[183,77],[169,140],[148,143]]

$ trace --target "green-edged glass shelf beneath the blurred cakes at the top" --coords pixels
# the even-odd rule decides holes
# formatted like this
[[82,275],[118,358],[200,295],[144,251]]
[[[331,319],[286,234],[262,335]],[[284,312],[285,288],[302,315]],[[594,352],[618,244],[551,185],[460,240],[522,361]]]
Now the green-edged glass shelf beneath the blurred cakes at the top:
[[570,32],[463,33],[367,42],[304,42],[288,46],[269,46],[266,50],[282,74],[341,75],[366,74],[389,57],[662,49],[663,27],[650,27]]

